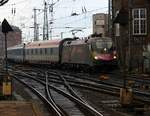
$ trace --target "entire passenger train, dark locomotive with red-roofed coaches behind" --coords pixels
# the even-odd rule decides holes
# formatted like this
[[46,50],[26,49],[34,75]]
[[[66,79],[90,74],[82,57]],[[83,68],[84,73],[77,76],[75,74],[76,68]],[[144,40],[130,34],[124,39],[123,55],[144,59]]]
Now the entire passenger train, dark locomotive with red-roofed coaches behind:
[[95,67],[116,64],[116,51],[108,37],[65,38],[17,45],[7,49],[8,59],[34,64]]

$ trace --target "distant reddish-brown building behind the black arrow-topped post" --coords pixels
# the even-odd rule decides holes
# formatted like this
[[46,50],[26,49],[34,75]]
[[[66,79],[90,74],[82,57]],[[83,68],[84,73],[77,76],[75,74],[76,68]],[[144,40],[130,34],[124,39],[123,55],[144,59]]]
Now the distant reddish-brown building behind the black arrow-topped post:
[[[12,26],[13,31],[7,34],[7,47],[21,44],[21,30],[18,27]],[[0,59],[3,59],[5,53],[5,38],[0,26]]]

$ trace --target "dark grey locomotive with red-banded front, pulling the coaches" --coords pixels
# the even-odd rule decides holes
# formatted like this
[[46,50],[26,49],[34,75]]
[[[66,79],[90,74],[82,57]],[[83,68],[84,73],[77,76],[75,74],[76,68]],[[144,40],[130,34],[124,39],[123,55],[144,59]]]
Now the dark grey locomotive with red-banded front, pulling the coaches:
[[116,51],[113,49],[112,39],[108,37],[66,41],[63,45],[62,64],[94,67],[116,65],[116,61]]

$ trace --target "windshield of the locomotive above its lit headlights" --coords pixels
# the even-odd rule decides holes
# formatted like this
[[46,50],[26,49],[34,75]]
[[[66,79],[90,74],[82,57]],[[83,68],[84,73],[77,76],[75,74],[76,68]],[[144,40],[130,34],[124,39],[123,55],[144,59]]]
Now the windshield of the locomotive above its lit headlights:
[[112,48],[111,39],[100,39],[92,42],[92,49],[97,52],[107,52]]

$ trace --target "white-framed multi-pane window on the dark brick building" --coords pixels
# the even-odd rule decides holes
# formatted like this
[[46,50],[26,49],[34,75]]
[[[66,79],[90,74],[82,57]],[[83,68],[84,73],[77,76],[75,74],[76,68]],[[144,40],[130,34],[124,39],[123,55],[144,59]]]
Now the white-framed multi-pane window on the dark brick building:
[[133,35],[147,34],[147,13],[146,8],[132,10]]

